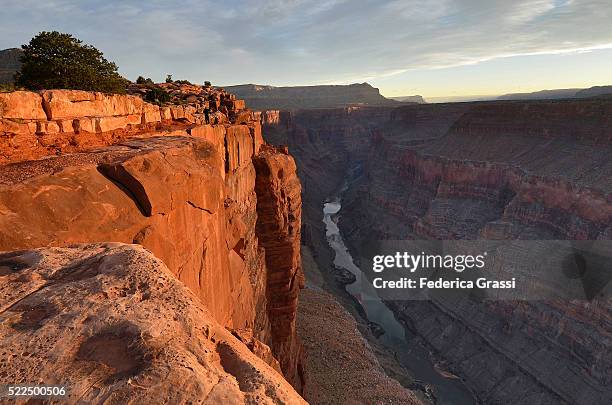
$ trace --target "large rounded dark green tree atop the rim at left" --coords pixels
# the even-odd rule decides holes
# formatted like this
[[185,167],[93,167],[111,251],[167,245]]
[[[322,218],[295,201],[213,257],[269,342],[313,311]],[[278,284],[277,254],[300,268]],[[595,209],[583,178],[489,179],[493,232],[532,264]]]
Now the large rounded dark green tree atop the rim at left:
[[102,52],[70,34],[43,31],[23,45],[17,85],[31,90],[78,89],[125,93],[127,80]]

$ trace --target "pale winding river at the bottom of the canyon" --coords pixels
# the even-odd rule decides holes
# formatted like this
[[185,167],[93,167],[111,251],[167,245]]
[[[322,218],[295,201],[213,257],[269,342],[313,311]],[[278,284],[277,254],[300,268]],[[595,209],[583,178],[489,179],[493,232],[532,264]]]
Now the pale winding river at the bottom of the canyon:
[[[393,312],[377,296],[368,296],[361,299],[360,279],[365,277],[348,251],[334,217],[340,212],[342,204],[340,199],[328,202],[323,206],[323,222],[325,223],[326,237],[330,247],[335,252],[334,265],[344,268],[357,278],[357,281],[346,285],[346,291],[351,294],[361,306],[370,322],[375,322],[384,329],[379,341],[395,354],[397,360],[408,370],[417,381],[418,388],[428,387],[429,398],[439,405],[467,405],[476,404],[477,401],[465,386],[463,381],[450,374],[436,370],[435,362],[427,348],[419,342],[394,316]],[[433,394],[431,393],[433,391]]]

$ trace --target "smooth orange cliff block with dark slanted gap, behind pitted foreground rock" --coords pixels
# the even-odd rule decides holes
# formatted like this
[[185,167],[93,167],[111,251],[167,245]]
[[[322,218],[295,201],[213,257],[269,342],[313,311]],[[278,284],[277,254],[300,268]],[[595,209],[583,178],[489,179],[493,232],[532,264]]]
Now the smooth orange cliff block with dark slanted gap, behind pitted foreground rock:
[[[52,162],[58,176],[43,167],[23,182],[2,186],[6,215],[0,218],[0,249],[139,243],[192,288],[222,324],[252,327],[249,288],[244,308],[233,300],[248,285],[248,276],[232,273],[227,253],[222,254],[228,252],[225,191],[218,171],[223,163],[210,144],[185,137],[147,138],[78,159]],[[35,171],[38,165],[22,167]],[[11,226],[20,230],[9,232]],[[207,271],[213,268],[225,271]]]

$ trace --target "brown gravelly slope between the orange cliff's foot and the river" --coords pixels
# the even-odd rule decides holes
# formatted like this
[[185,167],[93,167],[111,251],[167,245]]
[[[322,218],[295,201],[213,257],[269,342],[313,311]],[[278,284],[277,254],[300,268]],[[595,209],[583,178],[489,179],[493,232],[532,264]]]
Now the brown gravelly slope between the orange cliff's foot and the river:
[[[307,278],[300,294],[298,333],[306,350],[306,398],[312,404],[418,404],[421,399],[387,373],[405,370],[376,343],[332,293],[310,249],[302,246]],[[365,335],[365,337],[364,337]],[[381,362],[387,364],[383,368]],[[395,364],[394,364],[395,363]],[[339,364],[343,366],[338,367]]]

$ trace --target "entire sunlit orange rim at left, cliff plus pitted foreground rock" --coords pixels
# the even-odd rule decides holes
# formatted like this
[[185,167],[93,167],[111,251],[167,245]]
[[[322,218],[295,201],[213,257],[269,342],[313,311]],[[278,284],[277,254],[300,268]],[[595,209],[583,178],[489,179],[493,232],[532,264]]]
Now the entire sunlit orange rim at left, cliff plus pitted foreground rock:
[[2,381],[303,402],[295,164],[235,97],[182,90],[204,101],[0,93]]

